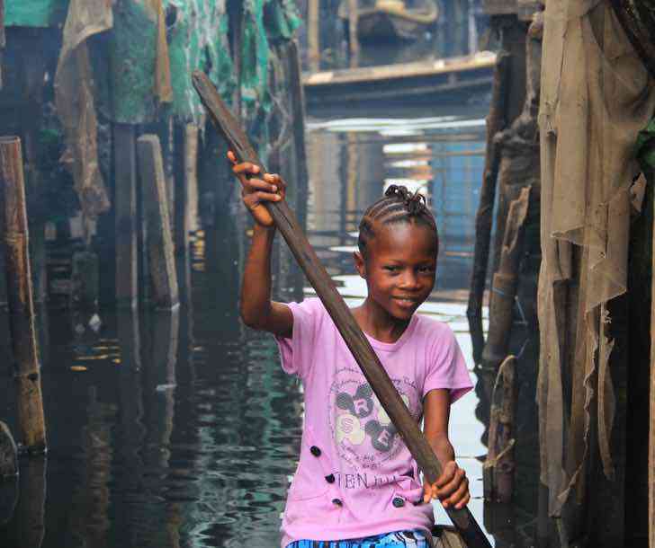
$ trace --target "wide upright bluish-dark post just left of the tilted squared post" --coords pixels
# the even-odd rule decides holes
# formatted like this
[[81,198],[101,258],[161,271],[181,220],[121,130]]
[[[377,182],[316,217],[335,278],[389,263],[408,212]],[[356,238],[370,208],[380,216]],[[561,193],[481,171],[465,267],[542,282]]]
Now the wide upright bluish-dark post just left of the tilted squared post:
[[113,125],[116,185],[116,305],[134,308],[139,294],[137,248],[136,132],[130,124]]

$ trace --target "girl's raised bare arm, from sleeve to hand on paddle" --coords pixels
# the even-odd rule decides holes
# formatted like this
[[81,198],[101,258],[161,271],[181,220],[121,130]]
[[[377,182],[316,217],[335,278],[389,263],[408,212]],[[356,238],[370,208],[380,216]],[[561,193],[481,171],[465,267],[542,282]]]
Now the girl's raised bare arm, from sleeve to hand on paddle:
[[248,327],[291,337],[293,314],[287,305],[271,300],[271,249],[275,234],[273,217],[262,202],[284,199],[284,182],[277,175],[265,173],[257,179],[255,164],[236,164],[235,155],[228,157],[233,172],[241,182],[243,202],[255,219],[253,241],[247,256],[241,284],[241,319]]

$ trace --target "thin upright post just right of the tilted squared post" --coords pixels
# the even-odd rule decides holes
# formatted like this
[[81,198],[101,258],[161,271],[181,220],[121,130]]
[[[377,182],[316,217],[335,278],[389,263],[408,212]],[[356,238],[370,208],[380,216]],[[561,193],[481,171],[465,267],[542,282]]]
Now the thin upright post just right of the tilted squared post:
[[191,250],[189,249],[189,185],[186,180],[186,132],[174,129],[173,171],[175,177],[175,262],[180,302],[191,298]]

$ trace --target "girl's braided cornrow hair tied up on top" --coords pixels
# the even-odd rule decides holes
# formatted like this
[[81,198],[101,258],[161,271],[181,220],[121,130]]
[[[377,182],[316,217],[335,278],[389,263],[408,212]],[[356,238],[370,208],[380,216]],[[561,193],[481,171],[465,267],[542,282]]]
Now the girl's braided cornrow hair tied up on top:
[[435,232],[437,250],[439,236],[436,231],[435,217],[427,208],[426,197],[418,192],[410,192],[407,187],[395,184],[384,192],[384,196],[364,211],[359,224],[357,245],[359,252],[366,257],[368,243],[375,237],[374,225],[393,223],[416,223],[425,225]]

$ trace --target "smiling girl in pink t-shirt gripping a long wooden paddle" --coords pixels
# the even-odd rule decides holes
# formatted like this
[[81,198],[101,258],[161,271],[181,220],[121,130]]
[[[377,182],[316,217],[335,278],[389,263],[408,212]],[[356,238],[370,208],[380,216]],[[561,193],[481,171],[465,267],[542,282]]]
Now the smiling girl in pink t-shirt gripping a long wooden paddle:
[[471,390],[453,332],[414,314],[435,285],[438,239],[425,199],[391,186],[364,213],[354,265],[368,296],[352,309],[444,473],[419,482],[417,464],[381,408],[319,299],[271,300],[274,222],[262,203],[284,198],[277,176],[235,164],[256,224],[241,288],[241,317],[274,334],[282,366],[299,376],[305,420],[301,460],[283,515],[283,548],[432,546],[431,499],[462,508],[468,480],[448,439],[450,405]]

